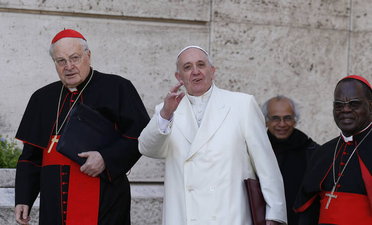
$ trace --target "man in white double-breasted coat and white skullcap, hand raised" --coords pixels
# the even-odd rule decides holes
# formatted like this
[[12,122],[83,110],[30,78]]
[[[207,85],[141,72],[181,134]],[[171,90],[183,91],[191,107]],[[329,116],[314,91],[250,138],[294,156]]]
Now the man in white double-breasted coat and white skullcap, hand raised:
[[254,97],[213,84],[198,46],[176,66],[179,82],[138,138],[143,155],[165,158],[163,225],[250,225],[247,178],[260,181],[266,225],[286,224],[283,179]]

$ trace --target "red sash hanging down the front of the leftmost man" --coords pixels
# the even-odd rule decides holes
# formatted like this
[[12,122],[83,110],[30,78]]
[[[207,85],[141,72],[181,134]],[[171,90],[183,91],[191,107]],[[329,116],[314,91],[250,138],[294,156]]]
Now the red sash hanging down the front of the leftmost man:
[[[60,135],[57,137],[60,139]],[[48,147],[51,145],[49,143]],[[80,171],[80,165],[56,151],[54,143],[52,150],[43,150],[43,163],[46,165],[69,165],[68,200],[66,225],[94,225],[98,222],[98,206],[100,194],[100,179],[91,177]],[[44,181],[48,182],[48,181]],[[62,182],[62,181],[61,181]],[[62,184],[61,184],[62,186]],[[61,189],[62,196],[62,189]],[[62,205],[62,203],[61,203]],[[61,212],[62,213],[62,212]]]

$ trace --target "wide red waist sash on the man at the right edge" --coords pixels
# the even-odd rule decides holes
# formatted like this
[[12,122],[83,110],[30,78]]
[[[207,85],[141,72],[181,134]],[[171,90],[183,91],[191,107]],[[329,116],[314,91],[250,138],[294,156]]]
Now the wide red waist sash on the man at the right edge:
[[334,192],[337,198],[332,198],[328,209],[325,206],[328,196],[321,192],[319,224],[337,225],[371,225],[372,214],[367,195],[346,192]]

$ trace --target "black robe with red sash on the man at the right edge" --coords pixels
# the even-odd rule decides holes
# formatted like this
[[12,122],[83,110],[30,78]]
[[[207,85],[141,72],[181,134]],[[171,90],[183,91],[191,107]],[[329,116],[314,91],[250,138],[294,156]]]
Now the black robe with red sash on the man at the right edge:
[[[294,204],[294,209],[302,212],[300,225],[372,224],[372,133],[367,136],[371,129],[372,126],[353,135],[349,142],[339,136],[314,151]],[[339,176],[333,193],[337,197],[326,196],[334,186],[334,178],[337,181]],[[319,221],[312,220],[317,217]]]

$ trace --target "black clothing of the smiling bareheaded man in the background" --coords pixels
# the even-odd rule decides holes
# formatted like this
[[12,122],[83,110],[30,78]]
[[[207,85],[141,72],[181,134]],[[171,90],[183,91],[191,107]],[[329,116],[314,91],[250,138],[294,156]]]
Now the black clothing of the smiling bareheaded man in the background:
[[295,213],[292,206],[311,154],[319,145],[298,129],[294,129],[289,138],[285,140],[277,139],[269,130],[267,130],[267,136],[283,176],[288,225],[298,225],[299,215]]

